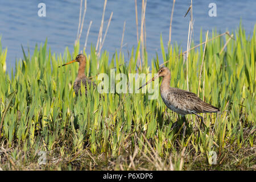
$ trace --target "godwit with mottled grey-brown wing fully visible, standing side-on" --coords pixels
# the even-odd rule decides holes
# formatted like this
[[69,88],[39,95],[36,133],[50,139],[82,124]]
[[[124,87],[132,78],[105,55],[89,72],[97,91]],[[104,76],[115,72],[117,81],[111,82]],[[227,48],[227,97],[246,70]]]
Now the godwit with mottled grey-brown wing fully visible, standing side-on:
[[203,122],[202,117],[199,113],[217,113],[220,111],[217,107],[214,107],[206,102],[202,101],[195,93],[188,92],[186,90],[181,90],[178,88],[171,88],[171,72],[167,67],[162,67],[159,69],[157,75],[153,77],[150,81],[146,82],[147,85],[151,81],[154,81],[155,78],[163,77],[162,84],[160,86],[160,94],[164,104],[175,111],[177,114],[181,114],[185,121],[185,114],[196,114]]

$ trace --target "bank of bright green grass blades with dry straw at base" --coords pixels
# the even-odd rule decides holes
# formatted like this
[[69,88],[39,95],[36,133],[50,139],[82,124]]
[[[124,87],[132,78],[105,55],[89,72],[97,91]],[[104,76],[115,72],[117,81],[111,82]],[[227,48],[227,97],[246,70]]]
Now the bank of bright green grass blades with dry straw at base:
[[[147,61],[145,53],[141,69],[139,46],[130,50],[129,61],[122,53],[107,51],[98,58],[94,47],[91,55],[84,52],[89,60],[86,76],[95,82],[99,73],[110,77],[112,68],[115,74],[156,73],[163,60],[171,70],[171,86],[187,90],[188,81],[191,92],[220,107],[220,114],[204,115],[205,130],[197,127],[195,116],[187,115],[185,138],[182,127],[171,129],[179,117],[160,95],[148,100],[148,94],[109,93],[99,100],[97,90],[90,89],[87,97],[76,97],[72,86],[79,65],[58,66],[79,53],[79,44],[72,53],[52,53],[47,42],[34,52],[24,51],[15,73],[9,74],[1,48],[0,169],[255,170],[255,31],[246,37],[240,27],[232,39],[219,36],[207,43],[205,55],[204,44],[192,49],[188,69],[179,56],[182,50],[164,47],[162,40],[162,55]],[[208,39],[217,35],[213,32]],[[204,40],[201,34],[200,42]],[[39,165],[39,151],[46,152],[46,164]],[[217,164],[210,164],[210,151],[216,152]]]

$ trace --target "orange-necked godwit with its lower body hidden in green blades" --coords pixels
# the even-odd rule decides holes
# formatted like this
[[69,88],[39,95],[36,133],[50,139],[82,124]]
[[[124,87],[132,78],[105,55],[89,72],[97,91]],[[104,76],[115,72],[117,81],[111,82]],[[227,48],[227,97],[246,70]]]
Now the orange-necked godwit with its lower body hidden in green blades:
[[79,72],[77,74],[76,80],[73,85],[73,89],[75,90],[76,96],[79,94],[79,90],[81,88],[81,82],[85,86],[85,94],[87,93],[87,86],[86,82],[88,82],[88,85],[93,85],[94,87],[96,86],[94,82],[90,81],[86,76],[85,76],[85,66],[86,66],[86,57],[83,54],[77,55],[75,60],[70,61],[69,63],[63,64],[60,67],[63,67],[65,65],[71,64],[71,63],[79,63]]

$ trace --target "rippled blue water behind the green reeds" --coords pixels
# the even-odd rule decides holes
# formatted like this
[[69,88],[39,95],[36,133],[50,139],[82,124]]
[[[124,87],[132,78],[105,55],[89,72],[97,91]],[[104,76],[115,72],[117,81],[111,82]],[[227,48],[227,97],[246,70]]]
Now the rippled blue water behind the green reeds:
[[[38,4],[46,3],[46,17],[38,16]],[[217,16],[210,17],[209,3],[217,5]],[[141,0],[137,0],[138,21],[141,22]],[[172,21],[172,41],[177,42],[183,49],[187,48],[189,15],[184,18],[191,0],[176,1],[174,17]],[[80,43],[83,45],[86,38],[89,22],[92,20],[86,52],[90,52],[90,44],[97,44],[98,31],[101,24],[104,0],[87,2],[84,28]],[[0,35],[2,35],[3,48],[7,47],[7,70],[15,67],[16,59],[22,58],[21,44],[27,50],[32,51],[35,44],[44,43],[48,39],[48,46],[52,52],[63,53],[65,47],[73,51],[73,44],[77,35],[79,24],[80,1],[0,1]],[[256,22],[256,1],[193,1],[195,44],[200,40],[200,29],[203,32],[216,28],[218,32],[232,31],[240,24],[249,35],[253,32]],[[172,0],[148,0],[146,6],[146,48],[148,61],[160,54],[160,34],[162,33],[164,46],[168,43]],[[133,46],[137,46],[137,31],[135,22],[134,0],[108,0],[105,12],[104,32],[108,19],[113,11],[112,22],[105,39],[103,50],[110,52],[110,56],[119,51],[121,46],[123,22],[126,21],[125,36],[123,39],[123,52],[127,52]],[[83,47],[83,46],[82,46]],[[162,56],[160,56],[162,57]]]

